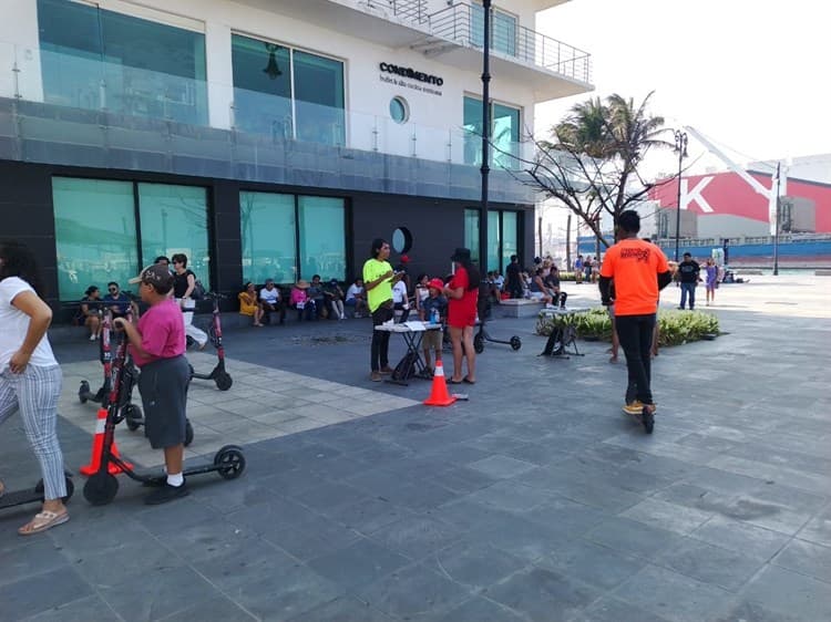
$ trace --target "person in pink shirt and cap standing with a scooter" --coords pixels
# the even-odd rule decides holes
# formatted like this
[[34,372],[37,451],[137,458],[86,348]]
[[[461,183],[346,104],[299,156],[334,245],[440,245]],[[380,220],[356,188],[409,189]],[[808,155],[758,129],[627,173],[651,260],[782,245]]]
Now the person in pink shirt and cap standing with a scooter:
[[182,310],[168,296],[173,274],[165,266],[145,268],[131,279],[140,282],[150,309],[133,325],[123,318],[115,324],[126,331],[130,353],[141,369],[138,391],[144,406],[144,431],[154,449],[164,449],[165,483],[145,497],[147,505],[164,504],[187,495],[182,462],[185,449],[185,408],[191,369],[185,359]]

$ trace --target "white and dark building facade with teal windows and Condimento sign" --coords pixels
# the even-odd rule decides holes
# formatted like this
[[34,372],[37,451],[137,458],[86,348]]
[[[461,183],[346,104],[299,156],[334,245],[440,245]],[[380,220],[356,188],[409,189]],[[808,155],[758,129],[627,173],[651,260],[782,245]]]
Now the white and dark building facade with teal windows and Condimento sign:
[[351,280],[372,238],[443,274],[533,253],[535,103],[591,86],[534,31],[555,0],[496,3],[491,191],[481,224],[484,12],[445,0],[7,0],[0,236],[53,303],[185,252],[215,290]]

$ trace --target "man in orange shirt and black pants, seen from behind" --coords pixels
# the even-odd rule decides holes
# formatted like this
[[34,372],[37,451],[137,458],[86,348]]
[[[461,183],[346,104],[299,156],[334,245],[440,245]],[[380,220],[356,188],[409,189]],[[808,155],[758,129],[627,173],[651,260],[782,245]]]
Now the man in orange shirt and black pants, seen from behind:
[[650,349],[658,312],[659,291],[671,281],[667,258],[652,243],[638,239],[640,216],[627,210],[617,220],[618,242],[606,251],[601,268],[601,300],[611,304],[609,286],[615,280],[615,324],[629,382],[624,412],[642,415],[652,432],[655,402],[650,380]]

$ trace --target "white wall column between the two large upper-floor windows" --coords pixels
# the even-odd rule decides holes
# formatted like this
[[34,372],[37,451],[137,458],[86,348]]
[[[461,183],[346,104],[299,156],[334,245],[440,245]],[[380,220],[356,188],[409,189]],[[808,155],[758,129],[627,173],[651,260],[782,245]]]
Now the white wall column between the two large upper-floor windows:
[[212,127],[229,129],[234,102],[234,71],[230,63],[230,27],[205,23],[208,118]]

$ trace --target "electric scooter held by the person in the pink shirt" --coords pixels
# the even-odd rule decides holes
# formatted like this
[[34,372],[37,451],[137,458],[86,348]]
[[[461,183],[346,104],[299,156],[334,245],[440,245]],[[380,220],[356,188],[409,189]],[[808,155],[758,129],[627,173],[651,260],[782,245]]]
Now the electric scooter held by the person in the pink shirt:
[[[130,314],[127,314],[127,321]],[[104,421],[104,439],[101,444],[101,460],[99,470],[93,473],[84,484],[83,495],[93,506],[103,506],[115,498],[119,491],[119,479],[110,474],[110,464],[117,466],[131,479],[141,481],[148,486],[161,486],[164,484],[165,475],[140,474],[133,470],[133,467],[125,463],[121,457],[112,454],[112,445],[115,435],[115,426],[124,419],[123,403],[129,400],[132,390],[124,381],[125,361],[127,357],[127,340],[122,340],[113,357],[112,366],[112,390],[110,392],[109,405],[106,408],[106,419]],[[245,470],[245,456],[242,447],[236,445],[226,445],[215,455],[213,464],[186,468],[183,475],[201,475],[203,473],[216,471],[224,479],[236,479]]]

